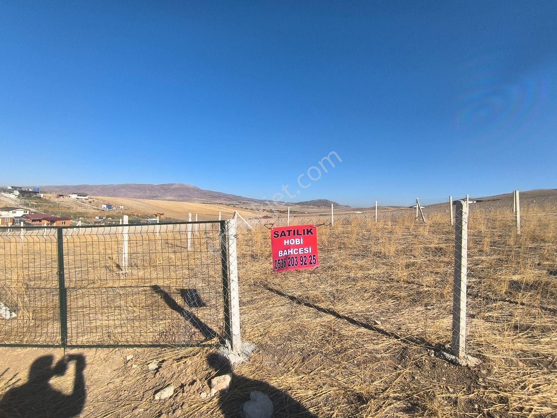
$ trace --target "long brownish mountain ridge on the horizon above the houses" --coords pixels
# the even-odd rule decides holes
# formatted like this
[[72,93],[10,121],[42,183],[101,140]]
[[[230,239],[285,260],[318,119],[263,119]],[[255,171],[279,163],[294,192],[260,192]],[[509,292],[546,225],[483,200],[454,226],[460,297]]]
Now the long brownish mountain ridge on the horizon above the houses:
[[204,190],[192,184],[75,184],[69,186],[41,186],[42,191],[82,192],[91,196],[128,197],[137,199],[172,200],[193,203],[249,204],[263,203],[262,200],[249,197],[229,195],[227,193]]

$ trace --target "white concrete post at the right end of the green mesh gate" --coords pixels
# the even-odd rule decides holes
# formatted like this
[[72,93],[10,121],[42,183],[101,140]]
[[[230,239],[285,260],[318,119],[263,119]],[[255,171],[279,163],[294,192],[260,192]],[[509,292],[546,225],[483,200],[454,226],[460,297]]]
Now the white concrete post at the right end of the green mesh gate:
[[238,257],[236,253],[236,219],[226,221],[226,235],[228,241],[228,285],[230,297],[230,349],[240,352],[242,339],[240,337],[240,295],[238,293]]

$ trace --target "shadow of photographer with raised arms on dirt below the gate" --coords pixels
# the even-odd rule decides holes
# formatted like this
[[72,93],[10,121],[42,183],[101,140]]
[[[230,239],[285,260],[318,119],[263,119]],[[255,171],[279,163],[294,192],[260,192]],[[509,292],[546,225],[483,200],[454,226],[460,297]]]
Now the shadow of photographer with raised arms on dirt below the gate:
[[[69,395],[52,387],[50,380],[66,374],[75,361],[75,376]],[[38,357],[29,369],[27,382],[8,390],[0,400],[0,418],[71,418],[78,416],[85,405],[85,357],[65,356],[54,364],[54,356]]]

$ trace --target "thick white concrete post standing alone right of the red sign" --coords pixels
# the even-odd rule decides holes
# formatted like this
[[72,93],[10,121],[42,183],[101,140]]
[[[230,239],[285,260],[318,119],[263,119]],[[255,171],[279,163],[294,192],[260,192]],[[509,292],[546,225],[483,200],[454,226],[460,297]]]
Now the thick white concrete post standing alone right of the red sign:
[[456,202],[455,273],[453,279],[453,323],[451,354],[466,354],[466,280],[468,270],[468,205]]

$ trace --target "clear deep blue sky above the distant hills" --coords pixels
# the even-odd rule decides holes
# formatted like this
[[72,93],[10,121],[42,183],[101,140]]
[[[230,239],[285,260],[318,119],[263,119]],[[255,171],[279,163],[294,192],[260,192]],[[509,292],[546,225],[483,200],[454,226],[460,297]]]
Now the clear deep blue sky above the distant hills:
[[555,21],[554,1],[4,1],[0,184],[554,188]]

